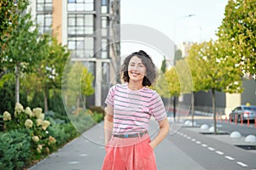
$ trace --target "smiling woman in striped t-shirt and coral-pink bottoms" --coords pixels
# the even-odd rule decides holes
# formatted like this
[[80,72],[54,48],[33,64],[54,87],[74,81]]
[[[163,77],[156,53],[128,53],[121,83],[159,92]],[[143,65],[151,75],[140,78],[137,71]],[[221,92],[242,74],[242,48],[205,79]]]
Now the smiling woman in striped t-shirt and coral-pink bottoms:
[[[109,89],[105,108],[106,156],[103,170],[156,169],[154,148],[169,132],[165,107],[159,94],[148,88],[156,78],[155,65],[143,50],[130,54],[122,66],[124,84]],[[151,141],[150,117],[159,123]]]

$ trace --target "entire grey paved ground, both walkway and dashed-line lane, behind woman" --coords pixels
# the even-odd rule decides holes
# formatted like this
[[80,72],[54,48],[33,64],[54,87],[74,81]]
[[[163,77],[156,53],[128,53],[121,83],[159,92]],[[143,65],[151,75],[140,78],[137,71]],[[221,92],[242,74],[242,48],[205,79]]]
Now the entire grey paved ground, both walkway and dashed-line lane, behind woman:
[[[172,131],[154,150],[159,170],[256,170],[256,151],[235,146],[245,144],[243,138],[233,140],[229,135],[201,134],[200,127],[182,126],[182,122],[170,124]],[[103,122],[90,128],[30,170],[101,169],[105,156],[102,125]],[[157,123],[150,122],[151,138],[157,130]]]

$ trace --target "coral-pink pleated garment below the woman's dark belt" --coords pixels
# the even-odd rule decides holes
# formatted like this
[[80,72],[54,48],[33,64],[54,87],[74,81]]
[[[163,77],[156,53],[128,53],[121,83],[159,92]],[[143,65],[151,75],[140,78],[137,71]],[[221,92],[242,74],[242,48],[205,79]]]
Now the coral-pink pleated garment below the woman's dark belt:
[[148,134],[137,138],[112,137],[106,145],[102,170],[156,170]]

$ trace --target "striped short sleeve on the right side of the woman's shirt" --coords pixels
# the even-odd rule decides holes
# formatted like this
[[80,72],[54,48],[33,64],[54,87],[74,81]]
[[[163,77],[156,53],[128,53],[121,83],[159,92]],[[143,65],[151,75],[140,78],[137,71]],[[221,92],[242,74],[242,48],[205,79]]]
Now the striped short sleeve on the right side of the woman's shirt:
[[163,104],[162,99],[160,98],[160,95],[154,92],[150,103],[149,103],[149,109],[152,116],[154,116],[156,121],[161,121],[166,118],[166,109]]

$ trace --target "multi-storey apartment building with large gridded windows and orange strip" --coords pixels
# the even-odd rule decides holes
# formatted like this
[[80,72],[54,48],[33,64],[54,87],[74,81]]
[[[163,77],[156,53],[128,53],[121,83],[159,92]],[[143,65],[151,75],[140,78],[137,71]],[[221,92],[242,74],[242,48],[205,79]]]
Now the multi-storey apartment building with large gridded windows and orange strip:
[[[119,71],[119,0],[31,0],[41,33],[50,32],[94,75],[89,105],[104,105]],[[116,80],[115,80],[116,79]]]

